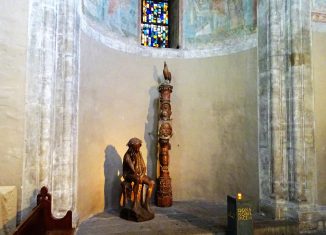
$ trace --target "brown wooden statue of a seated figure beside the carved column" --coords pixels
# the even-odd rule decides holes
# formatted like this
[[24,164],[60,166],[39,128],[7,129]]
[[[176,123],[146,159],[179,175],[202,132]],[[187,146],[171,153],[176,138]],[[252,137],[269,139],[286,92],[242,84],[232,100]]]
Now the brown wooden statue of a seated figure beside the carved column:
[[[139,151],[141,140],[132,138],[127,146],[128,150],[123,157],[123,191],[126,192],[126,187],[131,187],[134,200],[131,208],[124,207],[120,216],[129,220],[146,221],[154,218],[154,213],[150,210],[149,204],[154,189],[155,182],[146,175],[146,166],[142,154]],[[144,190],[143,185],[147,185],[145,200],[140,190]],[[128,195],[124,195],[126,200]],[[124,203],[125,206],[125,203]]]

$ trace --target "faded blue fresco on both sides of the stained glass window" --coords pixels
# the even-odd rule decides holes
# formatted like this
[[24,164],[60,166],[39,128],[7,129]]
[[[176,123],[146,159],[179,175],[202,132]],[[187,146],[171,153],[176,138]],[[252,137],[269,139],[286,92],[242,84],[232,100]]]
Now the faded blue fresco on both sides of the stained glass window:
[[[136,0],[83,0],[83,13],[106,30],[140,44],[140,4]],[[179,0],[181,48],[212,48],[256,30],[256,0]],[[183,7],[182,7],[183,6]],[[175,35],[178,37],[178,35]]]

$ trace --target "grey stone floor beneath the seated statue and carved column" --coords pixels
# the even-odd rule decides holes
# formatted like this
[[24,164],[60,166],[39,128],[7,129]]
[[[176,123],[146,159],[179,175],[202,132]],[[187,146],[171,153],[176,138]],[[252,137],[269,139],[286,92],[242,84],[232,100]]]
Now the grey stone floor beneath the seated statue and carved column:
[[174,202],[169,208],[152,208],[155,218],[141,223],[121,219],[118,211],[97,214],[80,224],[77,235],[225,234],[225,206],[206,202]]

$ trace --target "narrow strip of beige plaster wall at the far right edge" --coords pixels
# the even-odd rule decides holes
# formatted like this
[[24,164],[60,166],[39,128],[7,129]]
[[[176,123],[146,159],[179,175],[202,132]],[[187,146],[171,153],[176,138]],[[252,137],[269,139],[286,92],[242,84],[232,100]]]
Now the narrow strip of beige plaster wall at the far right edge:
[[318,204],[326,205],[326,33],[313,32],[312,39]]

